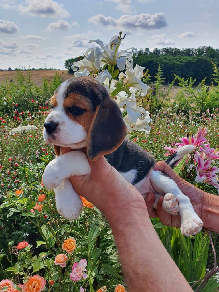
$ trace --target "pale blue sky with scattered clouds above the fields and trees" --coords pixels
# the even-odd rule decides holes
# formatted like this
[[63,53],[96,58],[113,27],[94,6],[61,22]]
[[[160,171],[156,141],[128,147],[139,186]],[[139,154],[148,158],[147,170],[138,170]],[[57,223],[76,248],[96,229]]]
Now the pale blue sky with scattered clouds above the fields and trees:
[[219,48],[218,0],[0,0],[0,69],[64,69],[90,39],[121,48]]

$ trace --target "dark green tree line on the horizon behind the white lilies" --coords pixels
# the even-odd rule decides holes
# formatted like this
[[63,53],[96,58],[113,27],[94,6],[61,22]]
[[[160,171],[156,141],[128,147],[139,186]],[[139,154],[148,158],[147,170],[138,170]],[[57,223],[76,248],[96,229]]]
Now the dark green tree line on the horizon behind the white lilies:
[[[69,73],[74,73],[71,69],[73,62],[84,58],[83,56],[68,59],[65,61],[65,68]],[[211,84],[213,77],[212,62],[219,65],[219,49],[214,49],[211,46],[201,46],[199,48],[155,48],[150,51],[149,48],[138,51],[138,57],[133,58],[134,66],[136,63],[141,67],[149,69],[151,82],[155,81],[155,74],[160,65],[164,82],[173,81],[174,74],[185,79],[192,77],[196,79],[195,84],[198,84],[206,78],[206,84]]]

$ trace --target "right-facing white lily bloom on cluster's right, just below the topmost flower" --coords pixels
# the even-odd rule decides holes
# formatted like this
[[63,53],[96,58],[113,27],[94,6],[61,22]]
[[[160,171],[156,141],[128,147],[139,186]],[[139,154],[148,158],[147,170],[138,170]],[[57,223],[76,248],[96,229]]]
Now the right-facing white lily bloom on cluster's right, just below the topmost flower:
[[[128,62],[127,62],[128,63]],[[127,67],[127,66],[126,66]],[[140,78],[143,77],[143,70],[145,67],[141,67],[139,65],[136,65],[134,69],[130,68],[126,70],[126,74],[120,73],[119,74],[119,80],[123,79],[123,84],[129,84],[129,83],[135,83],[130,87],[130,92],[136,92],[141,95],[146,95],[147,90],[150,88],[145,83],[143,83]]]

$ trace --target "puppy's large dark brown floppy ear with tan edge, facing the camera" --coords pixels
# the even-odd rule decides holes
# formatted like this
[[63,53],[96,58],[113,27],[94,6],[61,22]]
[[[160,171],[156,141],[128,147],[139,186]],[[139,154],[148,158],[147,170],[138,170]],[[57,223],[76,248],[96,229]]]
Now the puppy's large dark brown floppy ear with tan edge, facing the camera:
[[116,150],[127,134],[127,127],[117,103],[107,92],[102,95],[88,132],[90,143],[87,147],[87,155],[93,161],[101,155]]

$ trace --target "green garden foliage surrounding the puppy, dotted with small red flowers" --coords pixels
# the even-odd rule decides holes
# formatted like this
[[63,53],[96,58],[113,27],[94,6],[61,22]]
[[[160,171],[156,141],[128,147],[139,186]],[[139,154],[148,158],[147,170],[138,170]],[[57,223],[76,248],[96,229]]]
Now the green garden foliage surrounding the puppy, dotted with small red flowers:
[[[214,81],[217,83],[218,68],[216,65],[213,68]],[[194,133],[199,126],[205,126],[208,128],[206,135],[211,145],[216,148],[219,144],[218,111],[206,111],[202,116],[197,115],[197,111],[201,112],[202,108],[205,111],[205,107],[210,104],[210,102],[206,104],[210,94],[215,96],[215,101],[212,103],[218,100],[218,87],[211,88],[208,92],[205,90],[204,82],[196,89],[193,87],[192,79],[184,81],[177,77],[182,83],[181,98],[184,95],[188,98],[185,105],[188,105],[191,100],[194,102],[192,104],[194,106],[189,107],[190,115],[185,115],[180,109],[176,111],[175,107],[168,106],[169,94],[165,95],[166,93],[162,92],[161,88],[164,80],[162,74],[159,67],[155,87],[157,103],[152,104],[154,111],[156,107],[158,111],[156,115],[152,115],[152,133],[149,137],[136,135],[137,143],[154,154],[157,160],[163,160],[166,152],[163,146],[178,142],[178,138],[185,136],[188,132]],[[96,208],[85,207],[78,220],[69,222],[62,218],[56,211],[53,192],[47,192],[41,184],[43,170],[48,161],[54,158],[53,149],[50,145],[45,145],[41,130],[39,129],[37,133],[8,136],[8,131],[18,125],[31,124],[38,128],[42,127],[49,110],[47,100],[61,82],[62,79],[57,74],[52,82],[44,79],[39,90],[29,77],[25,79],[22,72],[18,71],[16,82],[6,81],[0,85],[2,98],[0,103],[0,171],[3,177],[3,186],[0,187],[3,194],[0,198],[0,227],[2,227],[0,280],[11,278],[14,283],[20,284],[25,282],[30,275],[39,274],[46,280],[52,279],[55,282],[52,288],[47,284],[47,291],[54,289],[57,292],[74,292],[79,291],[81,285],[86,286],[86,291],[96,291],[105,285],[107,291],[112,292],[116,284],[124,283],[112,230],[105,217]],[[121,80],[116,90],[119,92],[123,88]],[[17,106],[16,103],[18,103]],[[161,110],[164,106],[169,108]],[[18,115],[18,112],[24,113]],[[178,168],[181,169],[180,164]],[[9,174],[7,174],[8,171]],[[194,181],[191,182],[196,184]],[[201,188],[216,194],[213,187],[203,184]],[[17,196],[14,191],[19,189],[23,191],[23,194]],[[39,203],[38,196],[42,193],[46,194],[46,200]],[[36,206],[36,202],[42,204],[43,209],[41,212],[34,210],[35,212],[32,213],[30,210]],[[195,284],[205,275],[206,268],[212,268],[212,251],[209,250],[209,238],[206,234],[200,232],[195,237],[186,238],[178,229],[166,227],[158,219],[152,219],[152,223],[165,248],[190,285]],[[57,254],[63,253],[63,241],[70,236],[76,239],[77,248],[72,254],[67,255],[67,267],[62,269],[54,265],[54,260]],[[16,246],[23,240],[28,241],[29,246],[18,250]],[[214,241],[217,246],[216,234]],[[218,250],[216,252],[218,253]],[[88,261],[88,279],[74,284],[69,279],[69,273],[72,264],[81,258]],[[193,288],[197,286],[195,284]],[[216,279],[211,279],[202,292],[213,292],[217,288]]]

